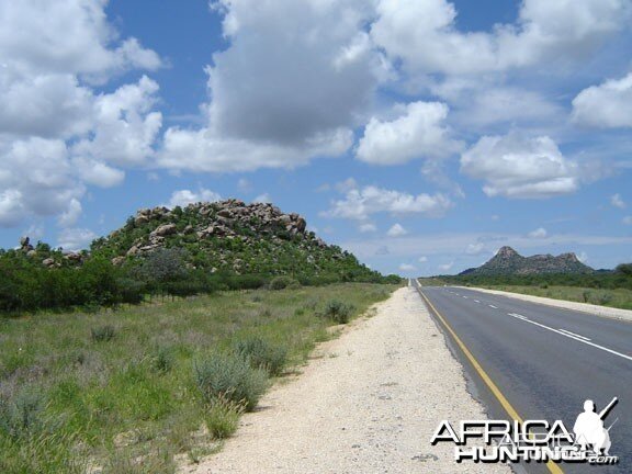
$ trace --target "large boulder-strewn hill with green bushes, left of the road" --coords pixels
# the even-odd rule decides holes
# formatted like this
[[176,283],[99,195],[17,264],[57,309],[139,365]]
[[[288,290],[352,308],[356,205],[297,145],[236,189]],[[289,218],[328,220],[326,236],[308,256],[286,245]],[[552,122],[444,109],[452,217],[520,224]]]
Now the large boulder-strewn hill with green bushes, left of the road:
[[124,264],[158,249],[179,248],[191,268],[212,273],[354,281],[381,278],[306,226],[298,214],[285,214],[272,204],[238,200],[172,210],[144,208],[121,229],[95,240],[91,252]]

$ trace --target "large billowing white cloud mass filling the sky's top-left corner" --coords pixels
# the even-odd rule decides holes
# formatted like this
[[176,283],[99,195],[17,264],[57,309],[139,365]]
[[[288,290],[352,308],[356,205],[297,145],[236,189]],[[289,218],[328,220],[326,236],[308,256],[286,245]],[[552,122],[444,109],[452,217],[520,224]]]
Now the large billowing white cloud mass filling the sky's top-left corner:
[[159,56],[120,38],[103,0],[36,0],[0,8],[0,226],[58,215],[71,226],[86,184],[112,187],[112,165],[151,154],[160,114],[157,84],[144,77],[111,93],[105,83],[131,69],[155,70]]

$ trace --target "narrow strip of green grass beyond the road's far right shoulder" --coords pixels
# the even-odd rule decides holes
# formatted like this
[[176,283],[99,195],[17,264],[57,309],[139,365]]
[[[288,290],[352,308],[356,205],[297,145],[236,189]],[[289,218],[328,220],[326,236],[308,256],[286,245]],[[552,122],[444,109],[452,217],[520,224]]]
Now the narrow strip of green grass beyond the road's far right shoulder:
[[628,289],[606,290],[580,286],[549,285],[481,285],[481,287],[507,291],[511,293],[522,293],[534,296],[544,296],[554,300],[589,303],[622,309],[632,309],[632,290]]

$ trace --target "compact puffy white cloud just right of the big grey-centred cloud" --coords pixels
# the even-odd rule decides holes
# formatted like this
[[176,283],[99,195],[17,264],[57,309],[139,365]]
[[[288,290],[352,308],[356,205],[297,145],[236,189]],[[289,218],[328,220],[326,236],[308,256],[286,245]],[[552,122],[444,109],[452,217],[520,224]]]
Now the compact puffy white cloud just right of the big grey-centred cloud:
[[445,125],[448,106],[439,102],[397,105],[393,121],[372,117],[356,156],[374,165],[400,165],[414,158],[445,157],[461,150]]

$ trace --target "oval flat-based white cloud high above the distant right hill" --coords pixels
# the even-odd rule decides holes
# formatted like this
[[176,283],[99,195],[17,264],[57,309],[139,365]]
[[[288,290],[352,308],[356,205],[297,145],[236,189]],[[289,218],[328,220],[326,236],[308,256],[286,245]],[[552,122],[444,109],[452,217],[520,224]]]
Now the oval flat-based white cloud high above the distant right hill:
[[546,136],[484,136],[461,156],[461,171],[485,180],[488,196],[551,198],[579,187],[577,165]]

